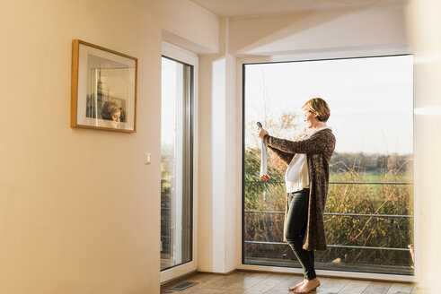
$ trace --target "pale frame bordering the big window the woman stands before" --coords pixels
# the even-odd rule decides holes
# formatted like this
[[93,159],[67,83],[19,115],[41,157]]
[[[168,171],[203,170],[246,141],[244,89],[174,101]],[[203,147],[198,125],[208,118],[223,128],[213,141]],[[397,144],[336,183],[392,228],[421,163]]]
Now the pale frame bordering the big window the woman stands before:
[[[272,63],[294,63],[294,62],[304,62],[304,61],[320,61],[320,60],[333,60],[333,59],[352,59],[352,58],[369,58],[369,57],[381,57],[381,56],[403,56],[412,55],[408,48],[394,48],[394,49],[380,49],[378,51],[371,50],[360,50],[353,52],[332,52],[332,53],[313,53],[304,55],[289,55],[289,56],[255,56],[255,57],[243,57],[238,58],[236,63],[236,82],[238,85],[237,97],[242,99],[237,99],[238,113],[241,118],[238,119],[238,129],[242,131],[241,139],[242,144],[238,148],[238,154],[242,155],[240,166],[241,170],[238,171],[240,175],[239,183],[241,183],[240,191],[241,195],[240,202],[238,206],[241,207],[241,223],[237,226],[236,236],[237,236],[237,260],[239,270],[250,270],[250,271],[264,271],[264,272],[286,272],[286,273],[298,273],[303,274],[301,268],[288,268],[288,267],[278,267],[278,266],[267,266],[267,265],[254,265],[254,264],[244,264],[244,172],[245,172],[245,128],[244,128],[244,118],[245,118],[245,65],[252,64],[272,64]],[[415,65],[413,66],[413,81],[415,83]],[[415,100],[415,98],[414,98]],[[414,107],[415,108],[415,107]],[[415,123],[415,116],[413,117],[413,122]],[[419,280],[419,195],[418,195],[418,164],[419,164],[419,151],[416,149],[416,134],[415,134],[415,124],[413,124],[413,158],[414,158],[414,174],[413,174],[413,226],[414,226],[414,245],[415,245],[415,272],[414,275],[399,275],[399,274],[385,274],[385,273],[374,273],[374,272],[344,272],[344,271],[331,271],[331,270],[316,270],[318,275],[330,276],[330,277],[341,277],[343,274],[348,278],[354,279],[369,279],[369,280],[379,280],[379,281],[411,281],[417,282]],[[238,162],[239,164],[239,162]]]

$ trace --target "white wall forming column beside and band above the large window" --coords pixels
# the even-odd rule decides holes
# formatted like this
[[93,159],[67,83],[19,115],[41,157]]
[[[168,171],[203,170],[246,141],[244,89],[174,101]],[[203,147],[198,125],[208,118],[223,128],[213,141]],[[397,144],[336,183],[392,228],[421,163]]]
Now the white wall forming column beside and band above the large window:
[[[220,22],[219,53],[199,62],[200,271],[250,268],[242,265],[242,64],[409,53],[403,13],[401,5],[387,5]],[[219,91],[220,80],[228,91]]]

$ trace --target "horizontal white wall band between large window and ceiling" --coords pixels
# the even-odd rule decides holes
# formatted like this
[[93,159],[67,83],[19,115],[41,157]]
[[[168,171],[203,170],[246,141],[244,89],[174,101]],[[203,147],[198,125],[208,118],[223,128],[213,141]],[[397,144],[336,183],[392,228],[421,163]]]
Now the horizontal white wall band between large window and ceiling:
[[404,16],[403,5],[394,4],[236,17],[230,21],[229,52],[278,58],[390,54],[407,48]]

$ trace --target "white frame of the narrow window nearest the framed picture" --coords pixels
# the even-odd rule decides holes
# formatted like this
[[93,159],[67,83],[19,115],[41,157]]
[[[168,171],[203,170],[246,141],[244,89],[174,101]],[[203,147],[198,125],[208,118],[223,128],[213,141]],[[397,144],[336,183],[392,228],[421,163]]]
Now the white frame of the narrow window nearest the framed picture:
[[162,55],[193,66],[193,238],[192,260],[161,272],[161,284],[198,269],[198,55],[170,43],[162,43]]

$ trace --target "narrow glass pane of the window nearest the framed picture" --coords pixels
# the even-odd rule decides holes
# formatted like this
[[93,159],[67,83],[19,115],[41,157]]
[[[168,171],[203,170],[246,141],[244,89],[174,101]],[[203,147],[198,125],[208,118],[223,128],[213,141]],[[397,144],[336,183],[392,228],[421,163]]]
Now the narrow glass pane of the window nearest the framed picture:
[[193,67],[163,57],[161,270],[192,260]]

